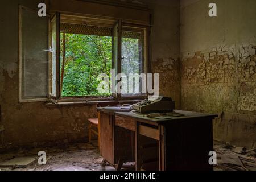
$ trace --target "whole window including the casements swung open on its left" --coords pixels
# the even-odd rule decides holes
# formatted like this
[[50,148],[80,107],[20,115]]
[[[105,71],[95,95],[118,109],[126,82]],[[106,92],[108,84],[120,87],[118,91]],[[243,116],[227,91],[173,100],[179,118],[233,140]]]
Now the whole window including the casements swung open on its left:
[[[19,101],[144,96],[143,77],[134,75],[148,71],[147,39],[148,26],[129,20],[58,12],[39,18],[20,6]],[[109,93],[98,92],[100,73],[109,76]],[[115,88],[121,81],[126,92]]]

